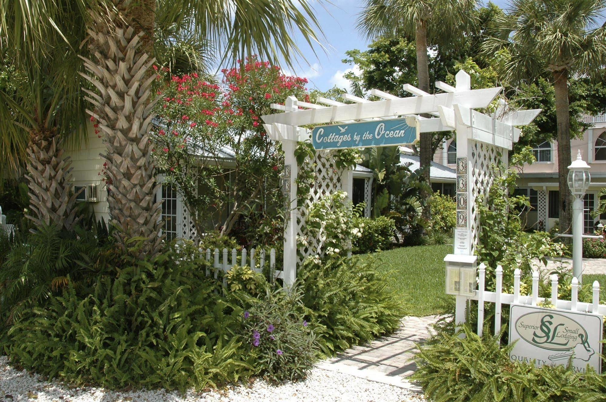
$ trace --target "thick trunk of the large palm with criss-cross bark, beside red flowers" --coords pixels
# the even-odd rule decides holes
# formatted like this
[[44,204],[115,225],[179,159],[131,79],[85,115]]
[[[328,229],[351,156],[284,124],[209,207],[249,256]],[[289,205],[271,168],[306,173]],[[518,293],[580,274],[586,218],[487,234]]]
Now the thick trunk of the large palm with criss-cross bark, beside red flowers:
[[[127,250],[129,238],[144,238],[136,256],[156,254],[161,247],[159,184],[151,158],[149,129],[153,118],[151,83],[156,75],[150,57],[155,0],[116,5],[116,12],[92,11],[90,50],[96,60],[84,59],[97,93],[87,91],[95,105],[88,111],[105,134],[107,202],[116,237]],[[156,97],[156,100],[160,97]]]

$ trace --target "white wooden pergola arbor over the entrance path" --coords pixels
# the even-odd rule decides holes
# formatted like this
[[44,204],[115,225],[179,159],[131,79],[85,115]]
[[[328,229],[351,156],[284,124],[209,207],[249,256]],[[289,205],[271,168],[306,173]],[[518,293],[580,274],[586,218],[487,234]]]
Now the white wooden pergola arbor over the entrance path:
[[[491,166],[499,161],[507,162],[507,151],[518,141],[520,129],[515,126],[528,125],[541,111],[507,111],[504,102],[496,111],[482,114],[473,109],[488,108],[496,99],[501,87],[471,89],[470,76],[464,71],[456,74],[456,85],[436,82],[442,93],[428,94],[410,84],[404,85],[410,97],[397,97],[379,89],[370,93],[381,100],[371,102],[350,94],[343,94],[349,104],[319,97],[316,102],[301,102],[288,97],[285,105],[271,107],[283,113],[264,115],[264,127],[275,141],[281,141],[284,151],[283,191],[290,209],[284,232],[284,285],[295,282],[296,267],[303,258],[319,253],[322,244],[297,248],[297,238],[305,233],[305,214],[311,202],[321,196],[344,190],[351,196],[351,170],[331,174],[331,152],[319,151],[316,155],[318,180],[311,191],[310,199],[298,205],[296,177],[298,166],[295,148],[298,141],[310,140],[311,130],[304,125],[333,123],[356,123],[390,120],[407,117],[410,126],[418,132],[456,131],[457,141],[457,229],[461,247],[455,254],[471,255],[478,241],[478,216],[475,199],[492,183]],[[421,114],[433,117],[424,118]],[[457,237],[457,236],[456,236]],[[468,247],[462,247],[467,239]],[[298,253],[299,251],[299,253]],[[299,255],[298,255],[299,254]]]

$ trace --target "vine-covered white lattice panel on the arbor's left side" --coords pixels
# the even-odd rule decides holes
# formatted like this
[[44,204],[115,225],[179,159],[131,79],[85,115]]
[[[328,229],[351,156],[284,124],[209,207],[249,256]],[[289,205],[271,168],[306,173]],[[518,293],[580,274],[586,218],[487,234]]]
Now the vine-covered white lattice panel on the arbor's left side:
[[[311,164],[315,170],[315,178],[307,199],[299,200],[299,213],[297,219],[297,236],[299,239],[305,239],[307,244],[300,245],[297,253],[298,264],[311,255],[322,256],[324,242],[321,239],[308,236],[307,225],[305,225],[305,216],[314,201],[318,201],[322,196],[335,193],[342,190],[341,175],[342,170],[336,169],[333,151],[316,151],[313,160],[305,160],[306,164]],[[320,233],[319,237],[322,237]]]

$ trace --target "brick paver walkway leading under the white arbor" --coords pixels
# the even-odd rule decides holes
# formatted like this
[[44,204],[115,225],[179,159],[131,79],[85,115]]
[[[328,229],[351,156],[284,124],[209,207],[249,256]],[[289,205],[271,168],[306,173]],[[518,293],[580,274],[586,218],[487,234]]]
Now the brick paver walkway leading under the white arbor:
[[323,361],[320,367],[415,389],[405,378],[416,369],[410,358],[416,351],[415,343],[422,343],[429,337],[428,326],[437,320],[438,316],[405,317],[400,328],[390,336],[347,349]]

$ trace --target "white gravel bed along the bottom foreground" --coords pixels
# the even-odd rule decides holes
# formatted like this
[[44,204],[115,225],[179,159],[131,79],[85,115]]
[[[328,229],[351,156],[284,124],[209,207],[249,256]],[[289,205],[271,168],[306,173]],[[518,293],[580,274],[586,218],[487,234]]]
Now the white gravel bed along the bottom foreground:
[[102,388],[70,388],[42,380],[38,375],[18,371],[0,357],[0,401],[44,402],[122,402],[122,401],[356,401],[356,402],[422,402],[424,398],[400,387],[315,368],[305,381],[271,386],[255,381],[250,386],[238,385],[210,392],[106,391]]

